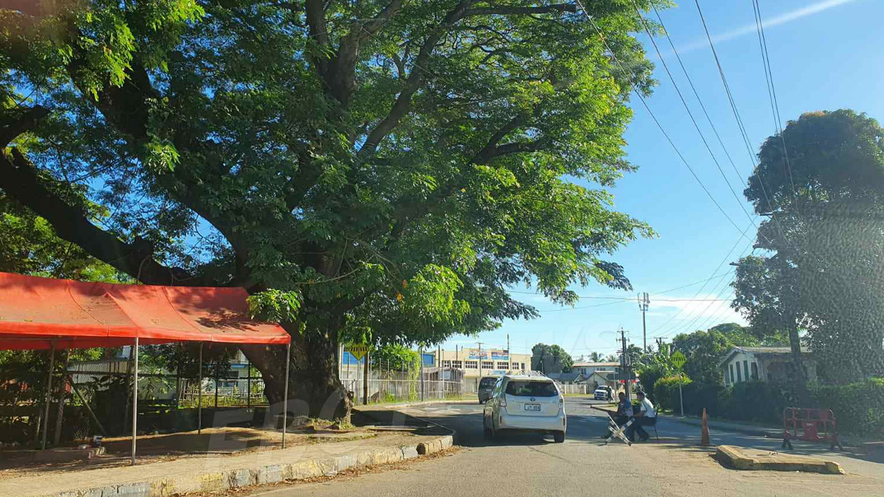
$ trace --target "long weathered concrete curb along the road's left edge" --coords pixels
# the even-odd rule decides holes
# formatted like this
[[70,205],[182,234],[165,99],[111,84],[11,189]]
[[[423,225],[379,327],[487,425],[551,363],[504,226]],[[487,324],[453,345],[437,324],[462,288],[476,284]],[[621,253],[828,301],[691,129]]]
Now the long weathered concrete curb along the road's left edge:
[[357,466],[398,463],[418,455],[428,455],[452,447],[453,437],[445,435],[423,441],[417,446],[385,447],[354,454],[307,459],[297,463],[268,464],[178,478],[158,478],[120,485],[96,486],[42,497],[171,497],[180,493],[220,492],[241,486],[265,485],[285,480],[330,477]]

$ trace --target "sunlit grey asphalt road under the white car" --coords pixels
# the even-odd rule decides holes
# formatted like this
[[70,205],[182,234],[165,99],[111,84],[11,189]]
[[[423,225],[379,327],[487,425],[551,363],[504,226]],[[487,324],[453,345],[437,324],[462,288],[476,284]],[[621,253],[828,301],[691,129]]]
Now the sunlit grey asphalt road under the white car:
[[[722,468],[697,447],[699,428],[660,419],[660,440],[627,447],[605,445],[599,436],[606,418],[590,409],[593,401],[568,397],[568,436],[563,444],[552,437],[511,434],[484,440],[482,408],[476,404],[443,404],[404,408],[402,412],[445,424],[457,431],[454,455],[405,470],[387,470],[326,483],[283,486],[262,496],[451,496],[451,495],[636,495],[745,496],[809,495],[866,496],[884,494],[884,464],[850,455],[821,452],[825,447],[796,446],[796,452],[836,459],[846,476]],[[779,440],[734,432],[712,432],[713,444],[779,450]],[[653,432],[652,432],[653,436]]]

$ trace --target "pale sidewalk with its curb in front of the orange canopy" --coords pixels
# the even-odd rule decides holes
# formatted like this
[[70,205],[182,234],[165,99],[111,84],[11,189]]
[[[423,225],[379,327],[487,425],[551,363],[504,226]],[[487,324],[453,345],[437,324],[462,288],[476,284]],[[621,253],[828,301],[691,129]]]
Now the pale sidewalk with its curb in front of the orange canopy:
[[170,497],[287,479],[331,476],[366,464],[395,463],[451,447],[450,435],[382,434],[377,438],[301,445],[244,455],[207,455],[95,470],[42,471],[0,480],[16,497]]

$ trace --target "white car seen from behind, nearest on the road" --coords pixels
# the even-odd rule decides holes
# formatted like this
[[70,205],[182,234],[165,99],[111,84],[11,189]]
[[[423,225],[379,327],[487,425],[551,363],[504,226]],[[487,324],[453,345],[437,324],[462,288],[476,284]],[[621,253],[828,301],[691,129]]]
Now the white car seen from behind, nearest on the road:
[[545,376],[506,375],[494,385],[485,403],[483,428],[486,438],[503,431],[552,433],[565,441],[568,417],[559,386]]

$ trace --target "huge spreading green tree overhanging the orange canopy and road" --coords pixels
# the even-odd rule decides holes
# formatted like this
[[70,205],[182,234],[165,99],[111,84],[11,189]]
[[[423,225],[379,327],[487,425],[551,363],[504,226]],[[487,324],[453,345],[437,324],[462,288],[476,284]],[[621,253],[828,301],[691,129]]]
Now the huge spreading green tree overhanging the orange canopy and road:
[[[652,67],[632,4],[584,4],[629,73],[575,2],[22,4],[0,189],[143,283],[246,287],[293,336],[293,397],[346,416],[341,340],[535,316],[517,284],[629,287],[607,255],[649,228],[606,187]],[[280,401],[285,355],[243,351]]]

